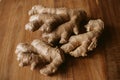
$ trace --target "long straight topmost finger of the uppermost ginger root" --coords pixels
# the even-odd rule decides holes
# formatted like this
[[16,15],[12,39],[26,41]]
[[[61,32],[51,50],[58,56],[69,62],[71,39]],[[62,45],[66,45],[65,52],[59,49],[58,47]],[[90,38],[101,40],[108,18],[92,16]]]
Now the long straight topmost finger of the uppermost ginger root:
[[29,10],[28,15],[35,14],[57,14],[57,15],[75,15],[76,11],[81,11],[78,9],[67,9],[67,8],[47,8],[42,5],[35,5]]

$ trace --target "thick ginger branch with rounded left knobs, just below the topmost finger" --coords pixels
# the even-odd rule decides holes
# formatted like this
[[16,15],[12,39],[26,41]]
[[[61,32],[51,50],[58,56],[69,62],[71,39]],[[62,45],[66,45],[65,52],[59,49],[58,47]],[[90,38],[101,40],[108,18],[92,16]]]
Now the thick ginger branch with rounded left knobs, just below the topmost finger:
[[69,20],[68,16],[53,14],[35,14],[29,19],[29,23],[25,25],[25,29],[36,31],[40,28],[42,32],[51,32],[58,25]]

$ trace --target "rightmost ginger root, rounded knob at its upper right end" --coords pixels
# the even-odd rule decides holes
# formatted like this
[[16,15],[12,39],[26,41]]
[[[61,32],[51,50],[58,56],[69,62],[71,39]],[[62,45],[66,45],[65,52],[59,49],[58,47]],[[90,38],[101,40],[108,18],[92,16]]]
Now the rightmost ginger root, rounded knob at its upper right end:
[[96,48],[97,39],[104,29],[103,21],[90,20],[85,28],[87,33],[71,36],[69,42],[61,46],[65,53],[74,57],[87,56],[88,51]]

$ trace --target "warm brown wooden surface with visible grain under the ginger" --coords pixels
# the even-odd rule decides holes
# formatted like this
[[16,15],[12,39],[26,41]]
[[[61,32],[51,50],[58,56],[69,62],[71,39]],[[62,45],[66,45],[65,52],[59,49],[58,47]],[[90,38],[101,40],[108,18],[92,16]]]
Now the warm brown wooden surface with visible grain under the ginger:
[[[24,30],[28,10],[35,4],[84,9],[105,22],[98,47],[85,58],[66,57],[56,74],[46,77],[30,67],[20,68],[14,53],[20,42],[39,38]],[[120,0],[2,0],[0,2],[0,80],[120,80]]]

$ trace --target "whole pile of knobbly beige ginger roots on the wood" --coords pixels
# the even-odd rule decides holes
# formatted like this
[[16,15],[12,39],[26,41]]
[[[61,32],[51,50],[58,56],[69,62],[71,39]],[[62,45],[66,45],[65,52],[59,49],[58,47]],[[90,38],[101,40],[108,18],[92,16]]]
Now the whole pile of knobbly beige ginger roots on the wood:
[[[19,66],[31,66],[31,70],[39,64],[45,65],[40,73],[51,75],[64,62],[65,54],[73,57],[87,56],[97,46],[97,41],[104,29],[101,19],[88,20],[87,13],[79,9],[47,8],[35,5],[28,12],[30,18],[25,30],[40,31],[41,39],[31,43],[19,43],[15,53]],[[86,32],[81,33],[85,28]],[[57,43],[57,44],[55,44]]]

